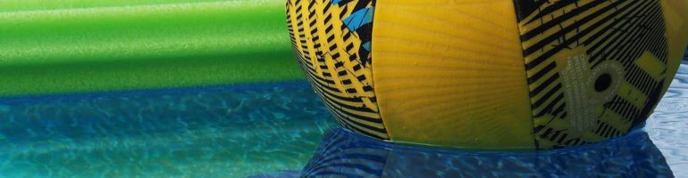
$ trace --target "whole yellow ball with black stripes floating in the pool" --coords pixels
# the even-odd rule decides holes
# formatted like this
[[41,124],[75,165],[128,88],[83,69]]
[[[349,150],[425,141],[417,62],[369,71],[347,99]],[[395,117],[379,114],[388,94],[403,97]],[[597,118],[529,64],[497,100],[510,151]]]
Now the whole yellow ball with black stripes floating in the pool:
[[548,150],[642,127],[688,42],[684,0],[288,0],[294,52],[345,128]]

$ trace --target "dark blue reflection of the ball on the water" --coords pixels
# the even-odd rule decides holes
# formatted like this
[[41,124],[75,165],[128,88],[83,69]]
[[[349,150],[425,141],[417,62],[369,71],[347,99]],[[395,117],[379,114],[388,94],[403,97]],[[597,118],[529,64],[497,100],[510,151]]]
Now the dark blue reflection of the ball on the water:
[[437,150],[376,141],[343,128],[326,135],[302,176],[673,176],[648,134],[566,150],[497,152]]

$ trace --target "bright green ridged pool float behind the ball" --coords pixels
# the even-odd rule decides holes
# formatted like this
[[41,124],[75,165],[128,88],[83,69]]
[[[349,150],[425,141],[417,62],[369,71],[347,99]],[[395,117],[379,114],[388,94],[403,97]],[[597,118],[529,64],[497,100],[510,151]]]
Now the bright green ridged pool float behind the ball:
[[0,97],[303,79],[282,0],[0,2]]

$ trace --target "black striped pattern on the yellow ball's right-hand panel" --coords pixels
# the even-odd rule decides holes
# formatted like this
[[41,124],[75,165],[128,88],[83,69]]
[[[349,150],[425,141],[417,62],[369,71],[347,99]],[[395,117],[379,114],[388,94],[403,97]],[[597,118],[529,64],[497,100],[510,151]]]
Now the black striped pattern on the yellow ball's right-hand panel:
[[[626,119],[629,126],[606,123],[607,115],[597,117],[588,132],[612,138],[629,132],[649,117],[659,101],[666,79],[651,77],[636,64],[643,53],[651,53],[667,65],[667,40],[659,0],[515,0],[524,44],[525,69],[532,98],[533,125],[539,149],[595,142],[569,129],[548,125],[555,119],[568,119],[563,79],[555,56],[566,50],[584,47],[589,69],[605,61],[623,65],[624,82],[641,91],[647,101],[638,107],[620,95],[602,104],[604,111]],[[524,27],[528,28],[524,28]],[[552,30],[554,35],[546,35]],[[570,103],[569,103],[570,105]]]

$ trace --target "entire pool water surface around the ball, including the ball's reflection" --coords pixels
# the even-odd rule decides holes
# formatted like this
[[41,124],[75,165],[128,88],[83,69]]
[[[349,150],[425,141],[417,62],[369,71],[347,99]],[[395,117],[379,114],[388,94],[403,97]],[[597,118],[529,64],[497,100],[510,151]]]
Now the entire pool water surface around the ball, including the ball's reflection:
[[566,150],[373,141],[306,82],[8,98],[0,118],[0,177],[688,175],[688,61],[642,131]]

